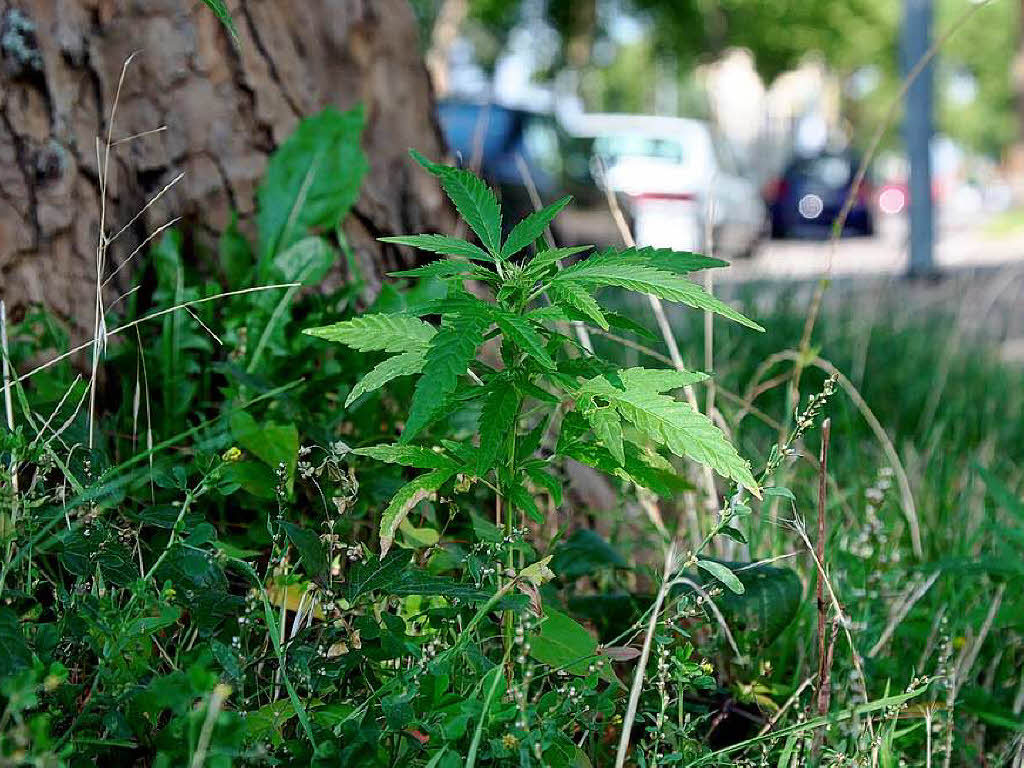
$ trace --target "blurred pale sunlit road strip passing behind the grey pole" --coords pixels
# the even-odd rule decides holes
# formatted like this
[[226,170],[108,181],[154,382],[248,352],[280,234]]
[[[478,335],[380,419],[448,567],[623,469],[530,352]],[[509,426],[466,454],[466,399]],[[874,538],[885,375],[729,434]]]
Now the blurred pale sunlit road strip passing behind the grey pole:
[[[831,274],[884,275],[905,271],[907,226],[903,217],[880,217],[873,238],[848,238],[835,249]],[[827,270],[831,246],[822,241],[766,240],[752,259],[716,270],[716,280],[813,279]],[[985,220],[942,221],[936,238],[939,269],[1024,265],[1024,230],[994,234]]]

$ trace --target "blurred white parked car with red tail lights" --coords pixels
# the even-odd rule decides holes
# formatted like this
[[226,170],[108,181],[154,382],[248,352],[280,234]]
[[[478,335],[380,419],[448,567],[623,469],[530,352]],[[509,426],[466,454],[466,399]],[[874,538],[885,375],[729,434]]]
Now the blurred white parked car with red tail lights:
[[728,145],[699,120],[640,115],[582,115],[566,126],[590,140],[591,174],[628,197],[639,245],[705,250],[709,222],[715,252],[750,255],[764,229],[765,208]]

